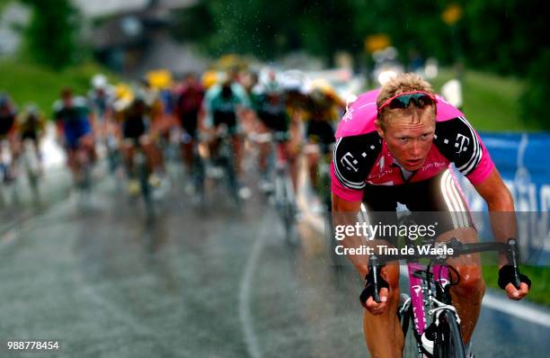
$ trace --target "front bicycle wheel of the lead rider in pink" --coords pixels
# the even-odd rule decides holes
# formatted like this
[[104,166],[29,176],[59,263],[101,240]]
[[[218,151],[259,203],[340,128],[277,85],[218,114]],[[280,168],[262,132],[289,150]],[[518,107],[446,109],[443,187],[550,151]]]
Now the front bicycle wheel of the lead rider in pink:
[[445,310],[439,316],[438,334],[434,344],[436,358],[465,358],[460,327],[455,314]]

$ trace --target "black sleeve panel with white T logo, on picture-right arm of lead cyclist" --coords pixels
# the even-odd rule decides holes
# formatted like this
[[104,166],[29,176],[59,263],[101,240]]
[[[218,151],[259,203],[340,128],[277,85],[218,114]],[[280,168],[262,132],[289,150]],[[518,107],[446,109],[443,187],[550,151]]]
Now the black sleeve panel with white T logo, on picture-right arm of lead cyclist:
[[437,122],[433,143],[463,175],[472,173],[483,157],[479,137],[464,117]]

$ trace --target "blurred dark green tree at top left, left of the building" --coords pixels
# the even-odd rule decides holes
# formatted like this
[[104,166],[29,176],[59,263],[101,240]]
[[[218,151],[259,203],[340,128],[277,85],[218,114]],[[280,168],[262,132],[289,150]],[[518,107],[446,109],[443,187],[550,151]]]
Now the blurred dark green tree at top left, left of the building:
[[81,21],[70,0],[24,0],[32,9],[31,23],[26,29],[29,56],[47,67],[60,69],[75,63]]

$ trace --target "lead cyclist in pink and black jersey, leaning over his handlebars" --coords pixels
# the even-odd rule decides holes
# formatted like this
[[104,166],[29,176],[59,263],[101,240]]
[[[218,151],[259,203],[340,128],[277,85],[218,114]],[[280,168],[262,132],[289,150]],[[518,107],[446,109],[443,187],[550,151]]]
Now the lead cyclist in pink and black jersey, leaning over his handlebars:
[[[388,214],[396,215],[397,206],[402,204],[412,213],[434,213],[439,222],[437,241],[457,237],[463,242],[476,242],[477,231],[466,201],[449,169],[452,163],[487,202],[494,237],[501,241],[516,237],[513,199],[482,140],[464,114],[434,94],[420,76],[398,75],[381,89],[361,94],[342,117],[335,137],[335,227],[355,225],[361,204],[374,223],[387,222]],[[360,237],[342,241],[348,247],[361,242]],[[396,242],[395,237],[377,236],[371,244],[391,246]],[[480,258],[468,256],[448,260],[460,276],[451,294],[462,319],[465,345],[469,345],[485,290]],[[373,277],[368,275],[368,256],[349,258],[369,290]],[[511,283],[510,265],[504,256],[500,257],[499,266],[499,285],[511,300],[521,300],[528,294],[528,277],[520,274],[517,290]],[[396,318],[398,278],[398,265],[384,266],[381,302],[372,296],[361,302],[365,307],[365,339],[374,357],[402,355],[403,332]]]

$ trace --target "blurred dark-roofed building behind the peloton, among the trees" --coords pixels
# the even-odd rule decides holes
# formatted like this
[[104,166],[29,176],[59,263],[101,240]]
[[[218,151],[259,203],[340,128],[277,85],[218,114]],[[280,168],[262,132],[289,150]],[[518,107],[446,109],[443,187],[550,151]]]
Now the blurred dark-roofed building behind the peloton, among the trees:
[[[141,76],[151,68],[165,68],[176,75],[204,71],[208,60],[196,55],[189,45],[174,40],[170,34],[173,12],[195,2],[119,2],[120,7],[113,9],[111,14],[102,13],[103,17],[108,17],[91,31],[96,58],[130,77]],[[91,6],[87,11],[97,13],[97,8]]]

